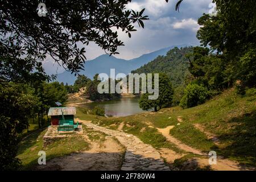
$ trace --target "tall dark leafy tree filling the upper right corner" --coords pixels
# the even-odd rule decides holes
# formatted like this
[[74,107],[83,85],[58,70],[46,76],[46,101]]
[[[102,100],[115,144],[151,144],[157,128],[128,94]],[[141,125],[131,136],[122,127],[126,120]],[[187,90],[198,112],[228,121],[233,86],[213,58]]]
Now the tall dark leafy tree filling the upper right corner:
[[[199,18],[197,38],[203,46],[221,55],[234,79],[255,86],[256,3],[253,0],[214,0],[217,15]],[[253,53],[254,52],[254,53]],[[230,71],[230,69],[232,69]]]

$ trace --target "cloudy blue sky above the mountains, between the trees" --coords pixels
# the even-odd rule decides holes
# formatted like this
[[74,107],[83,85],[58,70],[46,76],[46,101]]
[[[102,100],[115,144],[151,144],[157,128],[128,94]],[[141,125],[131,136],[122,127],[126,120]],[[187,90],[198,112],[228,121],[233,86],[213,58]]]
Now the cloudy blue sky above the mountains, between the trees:
[[[175,11],[176,2],[177,0],[169,0],[168,3],[165,0],[132,0],[128,3],[127,9],[140,11],[145,8],[144,15],[148,15],[149,20],[144,22],[144,28],[135,24],[137,31],[132,32],[131,38],[118,31],[119,40],[125,46],[118,48],[119,55],[115,57],[129,60],[170,46],[199,44],[196,38],[196,31],[200,28],[197,19],[203,13],[209,13],[212,0],[184,0],[179,12]],[[90,43],[85,50],[87,60],[105,53],[94,43]],[[51,62],[50,57],[46,61]],[[51,73],[55,67],[56,64],[46,71]],[[62,70],[59,68],[58,72]]]

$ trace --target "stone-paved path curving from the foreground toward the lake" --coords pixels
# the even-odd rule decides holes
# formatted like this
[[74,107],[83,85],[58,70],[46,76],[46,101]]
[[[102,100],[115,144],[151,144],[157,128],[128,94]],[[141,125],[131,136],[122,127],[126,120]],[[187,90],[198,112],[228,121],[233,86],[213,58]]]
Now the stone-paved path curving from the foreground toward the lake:
[[122,131],[110,130],[105,127],[94,125],[89,121],[82,121],[84,125],[94,130],[101,131],[105,134],[111,135],[119,140],[119,142],[126,147],[125,159],[121,170],[148,170],[148,171],[168,171],[170,170],[164,164],[159,152],[152,146],[143,143],[134,135],[123,133]]

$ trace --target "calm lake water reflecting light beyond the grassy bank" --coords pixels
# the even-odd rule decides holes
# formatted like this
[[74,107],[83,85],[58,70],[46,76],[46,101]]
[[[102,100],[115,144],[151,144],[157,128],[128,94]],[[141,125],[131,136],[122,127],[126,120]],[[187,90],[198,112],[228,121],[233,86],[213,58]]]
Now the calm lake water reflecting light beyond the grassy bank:
[[122,97],[112,101],[92,102],[82,106],[88,109],[98,106],[105,109],[106,115],[112,116],[126,116],[143,112],[139,108],[139,97]]

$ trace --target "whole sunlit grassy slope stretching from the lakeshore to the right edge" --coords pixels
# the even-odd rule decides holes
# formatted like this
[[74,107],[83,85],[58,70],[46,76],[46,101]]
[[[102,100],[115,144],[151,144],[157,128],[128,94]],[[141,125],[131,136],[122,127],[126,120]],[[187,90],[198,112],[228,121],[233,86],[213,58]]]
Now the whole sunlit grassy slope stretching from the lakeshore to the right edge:
[[[255,166],[256,163],[256,90],[247,90],[246,96],[237,96],[233,89],[226,90],[220,96],[203,105],[189,109],[171,107],[160,110],[156,114],[141,113],[128,117],[103,118],[94,115],[82,114],[81,119],[92,120],[102,126],[110,126],[117,129],[121,122],[126,125],[123,130],[126,133],[137,135],[143,142],[152,146],[168,147],[181,152],[174,144],[169,143],[154,128],[148,127],[151,123],[154,127],[164,128],[175,125],[170,131],[174,137],[198,148],[202,151],[217,151],[217,155],[224,155],[237,160],[241,164]],[[180,125],[177,117],[182,118]],[[216,135],[220,145],[216,146],[207,136],[196,129],[193,124],[199,123],[204,130]]]

